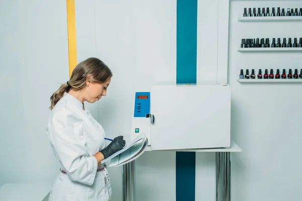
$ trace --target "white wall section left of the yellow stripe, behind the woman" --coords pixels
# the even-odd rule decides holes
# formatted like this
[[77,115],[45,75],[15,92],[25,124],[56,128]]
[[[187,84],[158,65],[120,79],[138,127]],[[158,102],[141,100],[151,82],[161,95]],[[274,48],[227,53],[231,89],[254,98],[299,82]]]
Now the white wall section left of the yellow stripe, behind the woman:
[[69,78],[66,2],[1,1],[0,16],[0,186],[52,183],[46,123],[50,95]]

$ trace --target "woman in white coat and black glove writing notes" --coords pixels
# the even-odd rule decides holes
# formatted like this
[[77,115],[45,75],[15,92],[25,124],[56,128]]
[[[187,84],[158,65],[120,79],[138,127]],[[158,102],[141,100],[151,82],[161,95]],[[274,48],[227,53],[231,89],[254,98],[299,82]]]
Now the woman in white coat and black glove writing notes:
[[50,97],[47,135],[61,168],[49,200],[110,200],[111,182],[101,161],[121,150],[125,140],[116,137],[106,147],[104,129],[84,102],[95,103],[105,96],[111,77],[101,60],[88,58]]

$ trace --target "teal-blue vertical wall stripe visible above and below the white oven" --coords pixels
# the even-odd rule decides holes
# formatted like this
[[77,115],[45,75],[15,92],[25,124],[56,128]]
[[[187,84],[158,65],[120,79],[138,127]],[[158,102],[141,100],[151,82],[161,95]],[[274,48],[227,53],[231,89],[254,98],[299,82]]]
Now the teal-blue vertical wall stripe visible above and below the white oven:
[[[196,84],[197,0],[177,0],[176,39],[176,83]],[[195,152],[176,152],[177,201],[195,200],[195,164]]]

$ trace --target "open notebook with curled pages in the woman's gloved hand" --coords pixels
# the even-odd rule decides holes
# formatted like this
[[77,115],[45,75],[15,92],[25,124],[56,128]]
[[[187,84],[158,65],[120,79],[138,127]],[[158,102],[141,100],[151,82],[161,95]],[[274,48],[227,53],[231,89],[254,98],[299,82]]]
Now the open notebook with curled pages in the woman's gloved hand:
[[138,158],[147,148],[148,139],[145,134],[139,134],[130,144],[110,157],[102,160],[107,167],[118,167]]

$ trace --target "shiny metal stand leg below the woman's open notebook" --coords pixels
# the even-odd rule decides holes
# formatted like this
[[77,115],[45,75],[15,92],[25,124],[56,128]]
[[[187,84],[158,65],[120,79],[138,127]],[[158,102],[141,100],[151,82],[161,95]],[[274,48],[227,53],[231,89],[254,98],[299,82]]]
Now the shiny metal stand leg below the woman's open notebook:
[[123,201],[136,201],[135,160],[123,165]]

